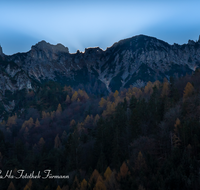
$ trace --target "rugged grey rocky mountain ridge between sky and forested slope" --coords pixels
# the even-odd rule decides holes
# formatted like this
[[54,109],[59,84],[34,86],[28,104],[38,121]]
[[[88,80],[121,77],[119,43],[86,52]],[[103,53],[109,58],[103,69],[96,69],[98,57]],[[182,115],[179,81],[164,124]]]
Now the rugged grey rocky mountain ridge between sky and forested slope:
[[[92,75],[109,91],[114,91],[130,85],[143,86],[149,80],[191,73],[200,65],[200,39],[197,42],[189,40],[184,45],[169,45],[156,38],[139,35],[121,40],[105,51],[97,47],[75,54],[70,54],[68,48],[61,44],[41,41],[29,52],[4,56],[4,60],[17,65],[13,69],[9,64],[5,67],[10,77],[16,78],[21,71],[27,74],[19,74],[15,79],[17,83],[8,89],[31,88],[31,79],[39,82],[60,80],[73,86],[90,82],[89,76]],[[6,76],[4,80],[8,81]]]

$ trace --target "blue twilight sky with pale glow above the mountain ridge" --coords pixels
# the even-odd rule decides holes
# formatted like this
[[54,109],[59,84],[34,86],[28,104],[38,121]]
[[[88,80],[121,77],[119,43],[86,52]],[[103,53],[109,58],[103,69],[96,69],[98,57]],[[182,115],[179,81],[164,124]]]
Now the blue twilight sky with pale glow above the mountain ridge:
[[41,40],[70,53],[144,34],[170,44],[197,40],[199,0],[0,0],[0,45],[7,55]]

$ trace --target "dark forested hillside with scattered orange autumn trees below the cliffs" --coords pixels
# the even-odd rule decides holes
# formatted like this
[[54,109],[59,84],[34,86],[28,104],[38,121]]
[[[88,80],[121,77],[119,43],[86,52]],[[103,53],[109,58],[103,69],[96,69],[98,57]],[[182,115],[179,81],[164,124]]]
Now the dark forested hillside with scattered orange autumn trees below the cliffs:
[[7,90],[15,109],[0,107],[0,170],[69,179],[0,179],[0,189],[199,189],[199,81],[196,70],[103,97],[53,81]]

